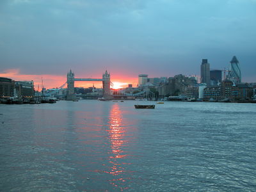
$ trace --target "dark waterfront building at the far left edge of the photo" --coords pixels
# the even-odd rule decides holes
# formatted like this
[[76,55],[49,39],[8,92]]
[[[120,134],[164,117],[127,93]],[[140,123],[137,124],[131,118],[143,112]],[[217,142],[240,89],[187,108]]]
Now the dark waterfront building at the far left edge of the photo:
[[12,79],[0,77],[0,97],[13,97],[14,86]]

